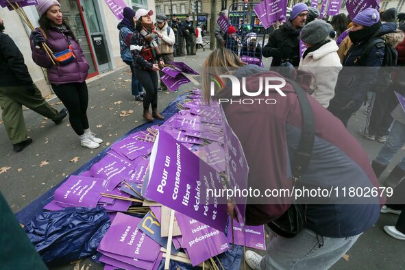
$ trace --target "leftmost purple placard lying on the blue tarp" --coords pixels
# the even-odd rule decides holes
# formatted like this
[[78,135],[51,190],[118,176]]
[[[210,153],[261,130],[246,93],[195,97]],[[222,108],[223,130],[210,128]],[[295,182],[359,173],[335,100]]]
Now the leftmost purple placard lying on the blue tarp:
[[100,193],[108,191],[109,181],[93,177],[71,175],[56,189],[56,203],[63,207],[82,206],[94,208],[101,199]]

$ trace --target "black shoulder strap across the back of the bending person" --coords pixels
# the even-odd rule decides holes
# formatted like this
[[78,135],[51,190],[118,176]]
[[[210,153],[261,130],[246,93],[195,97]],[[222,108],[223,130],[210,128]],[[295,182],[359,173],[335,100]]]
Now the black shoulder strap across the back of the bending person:
[[302,112],[301,137],[299,138],[295,155],[291,159],[291,173],[293,174],[294,182],[296,182],[308,169],[308,164],[312,157],[312,149],[315,143],[315,119],[304,89],[292,79],[286,79],[286,81],[294,86]]

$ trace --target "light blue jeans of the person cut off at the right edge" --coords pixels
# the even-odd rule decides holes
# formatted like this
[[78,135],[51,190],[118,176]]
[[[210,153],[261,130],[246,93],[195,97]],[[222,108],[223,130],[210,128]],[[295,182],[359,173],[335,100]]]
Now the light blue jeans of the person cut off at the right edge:
[[[405,143],[405,125],[399,121],[394,121],[388,140],[381,147],[376,158],[376,162],[380,164],[389,164],[397,151],[404,146]],[[398,163],[401,169],[405,171],[405,157]]]

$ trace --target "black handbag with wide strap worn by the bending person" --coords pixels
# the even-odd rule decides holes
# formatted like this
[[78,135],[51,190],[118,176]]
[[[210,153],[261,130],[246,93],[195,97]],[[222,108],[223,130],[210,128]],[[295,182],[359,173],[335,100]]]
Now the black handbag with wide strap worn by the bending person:
[[[291,173],[293,175],[293,186],[295,186],[301,175],[308,169],[312,156],[315,141],[315,119],[302,87],[291,79],[286,79],[286,81],[293,85],[295,93],[297,93],[303,120],[299,145],[291,158]],[[293,198],[291,207],[281,217],[267,225],[276,234],[286,238],[293,238],[304,230],[306,226],[306,206],[299,204],[299,201]]]

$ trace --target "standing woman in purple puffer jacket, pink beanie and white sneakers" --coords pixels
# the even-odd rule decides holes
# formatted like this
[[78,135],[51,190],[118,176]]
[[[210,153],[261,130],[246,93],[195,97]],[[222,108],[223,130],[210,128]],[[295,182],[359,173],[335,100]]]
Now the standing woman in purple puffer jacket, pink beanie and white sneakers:
[[[58,1],[39,0],[36,10],[40,15],[40,28],[30,36],[32,58],[38,66],[47,69],[53,92],[68,110],[71,127],[79,136],[80,144],[95,149],[103,140],[96,138],[88,125],[88,90],[85,80],[89,66],[82,47],[71,27],[64,21]],[[53,57],[42,49],[43,42],[51,49]]]

